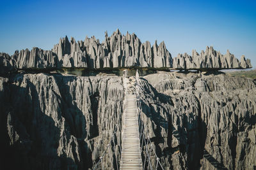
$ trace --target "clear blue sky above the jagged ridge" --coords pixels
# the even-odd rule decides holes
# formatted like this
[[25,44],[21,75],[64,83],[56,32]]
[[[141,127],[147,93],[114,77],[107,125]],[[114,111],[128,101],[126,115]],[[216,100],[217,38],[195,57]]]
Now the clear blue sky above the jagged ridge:
[[135,32],[141,41],[164,41],[172,57],[205,46],[256,66],[256,1],[0,1],[0,52],[38,46],[50,50],[60,37],[104,39]]

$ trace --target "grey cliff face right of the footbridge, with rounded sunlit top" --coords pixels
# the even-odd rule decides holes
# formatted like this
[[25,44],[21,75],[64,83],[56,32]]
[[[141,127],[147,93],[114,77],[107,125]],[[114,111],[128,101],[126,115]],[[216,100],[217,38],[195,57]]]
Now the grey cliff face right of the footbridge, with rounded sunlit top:
[[144,122],[164,167],[253,169],[252,79],[194,73],[159,73],[145,79],[140,82]]

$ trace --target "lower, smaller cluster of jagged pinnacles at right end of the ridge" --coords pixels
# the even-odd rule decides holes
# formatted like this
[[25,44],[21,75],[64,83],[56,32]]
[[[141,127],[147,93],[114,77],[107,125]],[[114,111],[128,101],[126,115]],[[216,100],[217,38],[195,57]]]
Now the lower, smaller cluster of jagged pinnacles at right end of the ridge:
[[212,46],[207,46],[205,52],[199,54],[196,50],[192,51],[192,56],[188,53],[178,54],[173,59],[175,69],[237,69],[252,67],[250,59],[244,59],[244,55],[239,62],[234,54],[227,50],[225,55],[216,52]]

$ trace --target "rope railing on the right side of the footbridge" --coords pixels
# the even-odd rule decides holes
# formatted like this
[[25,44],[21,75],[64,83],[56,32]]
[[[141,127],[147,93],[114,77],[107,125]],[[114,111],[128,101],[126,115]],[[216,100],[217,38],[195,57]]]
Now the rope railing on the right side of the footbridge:
[[[139,80],[138,78],[136,78],[137,81],[137,87],[138,87],[138,83]],[[140,141],[141,141],[141,153],[143,153],[143,148],[145,148],[145,156],[144,156],[144,161],[143,161],[143,169],[164,169],[161,161],[159,159],[159,157],[157,156],[156,150],[154,149],[154,145],[150,139],[150,136],[148,134],[148,129],[145,129],[145,127],[147,128],[147,125],[143,124],[143,120],[141,117],[141,113],[142,108],[141,108],[141,99],[139,97],[139,93],[137,91],[137,107],[138,107],[138,124],[139,124],[139,132],[140,132]],[[151,153],[153,153],[154,155],[151,155]],[[155,156],[156,157],[156,167],[153,167],[153,164],[151,162],[150,157]],[[146,167],[147,165],[147,167]]]

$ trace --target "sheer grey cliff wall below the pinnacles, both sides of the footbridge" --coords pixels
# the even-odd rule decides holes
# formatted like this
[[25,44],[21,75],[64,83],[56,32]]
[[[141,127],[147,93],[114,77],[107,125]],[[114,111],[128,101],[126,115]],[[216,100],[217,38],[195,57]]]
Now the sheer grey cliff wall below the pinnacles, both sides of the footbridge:
[[[143,125],[165,169],[256,166],[252,79],[159,72],[140,78],[138,89]],[[5,169],[89,169],[116,130],[111,143],[116,150],[104,160],[110,169],[120,159],[123,100],[120,76],[1,78],[1,164]]]

